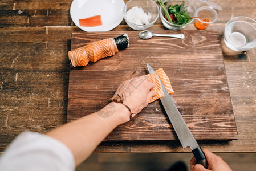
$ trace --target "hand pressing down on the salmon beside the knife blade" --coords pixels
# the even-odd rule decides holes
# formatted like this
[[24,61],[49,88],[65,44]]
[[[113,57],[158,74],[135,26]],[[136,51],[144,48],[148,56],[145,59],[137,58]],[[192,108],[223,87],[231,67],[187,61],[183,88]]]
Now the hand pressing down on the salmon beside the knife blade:
[[156,92],[152,90],[154,87],[155,84],[147,76],[135,77],[121,83],[113,97],[119,98],[118,94],[123,98],[123,104],[131,109],[132,117],[135,117],[156,95]]

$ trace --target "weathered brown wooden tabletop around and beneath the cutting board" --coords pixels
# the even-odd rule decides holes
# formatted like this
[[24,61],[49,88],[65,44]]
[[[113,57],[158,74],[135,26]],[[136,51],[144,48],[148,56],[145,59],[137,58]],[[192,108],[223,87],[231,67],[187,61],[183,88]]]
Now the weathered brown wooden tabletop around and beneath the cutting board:
[[[22,131],[47,132],[66,123],[72,31],[71,0],[0,1],[0,151]],[[127,1],[125,1],[127,2]],[[223,41],[226,22],[237,16],[256,19],[256,3],[213,2],[221,5],[208,29],[221,38],[227,80],[238,129],[238,140],[199,141],[213,152],[256,152],[256,49],[229,50]],[[186,30],[195,30],[189,25]],[[131,30],[125,21],[113,31]],[[166,30],[160,19],[150,30]],[[95,152],[189,152],[178,141],[101,143]]]

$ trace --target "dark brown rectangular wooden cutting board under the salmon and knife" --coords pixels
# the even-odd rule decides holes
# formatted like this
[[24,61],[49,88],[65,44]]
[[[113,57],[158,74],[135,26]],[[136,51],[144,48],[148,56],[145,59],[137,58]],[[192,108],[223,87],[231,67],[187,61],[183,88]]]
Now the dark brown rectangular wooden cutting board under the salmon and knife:
[[[148,74],[146,63],[164,68],[186,124],[197,140],[238,139],[229,87],[217,30],[165,30],[185,39],[140,39],[139,31],[126,31],[129,48],[85,67],[70,65],[67,121],[103,108],[124,80]],[[72,32],[71,50],[96,40],[124,34]],[[104,116],[108,117],[108,116]],[[149,104],[132,121],[120,125],[104,141],[177,140],[160,100]]]

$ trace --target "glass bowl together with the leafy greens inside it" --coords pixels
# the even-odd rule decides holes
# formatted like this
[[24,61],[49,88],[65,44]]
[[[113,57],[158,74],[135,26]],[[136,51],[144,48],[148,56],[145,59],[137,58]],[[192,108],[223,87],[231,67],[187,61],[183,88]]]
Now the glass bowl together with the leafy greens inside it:
[[196,6],[189,0],[157,0],[157,2],[160,4],[162,24],[169,30],[181,30],[196,17]]

